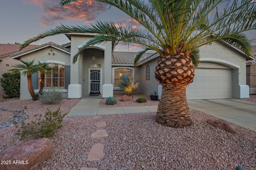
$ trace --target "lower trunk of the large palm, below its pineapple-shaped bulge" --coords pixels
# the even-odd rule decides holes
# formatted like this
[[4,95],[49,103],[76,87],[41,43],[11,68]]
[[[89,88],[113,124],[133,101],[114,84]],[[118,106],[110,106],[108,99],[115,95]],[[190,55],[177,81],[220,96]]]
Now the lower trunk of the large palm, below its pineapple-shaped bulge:
[[176,128],[191,125],[186,86],[173,86],[172,84],[162,86],[156,121],[161,125]]

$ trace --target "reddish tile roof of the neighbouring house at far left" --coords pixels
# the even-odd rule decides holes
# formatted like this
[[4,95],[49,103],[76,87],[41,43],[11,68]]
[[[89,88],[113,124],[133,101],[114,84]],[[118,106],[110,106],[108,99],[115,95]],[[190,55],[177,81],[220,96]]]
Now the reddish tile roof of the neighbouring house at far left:
[[[13,53],[17,53],[20,50],[21,44],[0,44],[0,57],[4,57],[6,55],[10,55]],[[28,45],[22,51],[36,47],[37,45]]]

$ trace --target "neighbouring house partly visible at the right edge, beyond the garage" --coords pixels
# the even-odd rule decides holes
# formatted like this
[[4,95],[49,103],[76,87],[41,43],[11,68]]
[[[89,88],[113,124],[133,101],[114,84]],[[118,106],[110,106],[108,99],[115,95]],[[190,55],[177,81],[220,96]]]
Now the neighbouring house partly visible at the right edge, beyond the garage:
[[[256,46],[252,47],[252,57],[256,58]],[[256,60],[246,61],[246,84],[250,87],[250,94],[256,94]]]

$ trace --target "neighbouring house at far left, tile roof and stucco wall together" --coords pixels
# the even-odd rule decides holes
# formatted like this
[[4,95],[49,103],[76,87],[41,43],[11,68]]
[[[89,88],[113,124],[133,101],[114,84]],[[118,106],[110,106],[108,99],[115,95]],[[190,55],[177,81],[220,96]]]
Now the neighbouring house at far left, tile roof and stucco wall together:
[[[12,69],[13,65],[19,64],[20,62],[14,59],[11,59],[9,56],[13,53],[17,53],[20,49],[20,44],[0,44],[0,78],[2,74],[8,72],[8,70]],[[26,49],[30,49],[35,47],[36,45],[29,45]],[[2,99],[4,95],[3,89],[0,86],[0,99]]]

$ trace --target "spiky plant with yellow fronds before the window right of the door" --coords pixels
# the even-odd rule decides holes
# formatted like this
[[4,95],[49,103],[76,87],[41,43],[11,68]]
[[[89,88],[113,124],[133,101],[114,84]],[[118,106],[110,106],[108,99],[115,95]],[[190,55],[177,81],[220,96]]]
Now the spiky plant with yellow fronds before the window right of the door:
[[139,82],[134,83],[134,79],[130,78],[130,73],[124,73],[122,76],[119,78],[119,88],[121,90],[124,90],[125,93],[130,96],[130,94],[134,91],[137,90],[139,87]]

